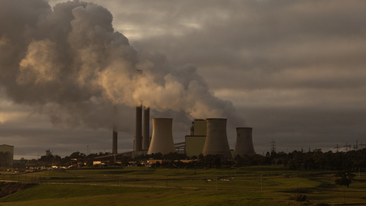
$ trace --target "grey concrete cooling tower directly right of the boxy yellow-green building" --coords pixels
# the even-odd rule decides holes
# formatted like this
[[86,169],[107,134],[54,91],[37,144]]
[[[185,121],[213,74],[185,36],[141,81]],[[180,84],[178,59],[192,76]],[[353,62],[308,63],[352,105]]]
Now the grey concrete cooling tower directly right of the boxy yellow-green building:
[[226,135],[226,121],[222,118],[206,119],[207,134],[202,154],[221,154],[224,158],[232,159],[228,137]]

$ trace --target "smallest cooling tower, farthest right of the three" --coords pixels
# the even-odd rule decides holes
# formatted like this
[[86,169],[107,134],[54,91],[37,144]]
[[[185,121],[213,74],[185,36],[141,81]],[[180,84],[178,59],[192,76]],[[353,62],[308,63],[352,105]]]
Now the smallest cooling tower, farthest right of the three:
[[251,127],[238,127],[236,128],[236,144],[234,149],[235,155],[255,155],[253,140],[252,140]]

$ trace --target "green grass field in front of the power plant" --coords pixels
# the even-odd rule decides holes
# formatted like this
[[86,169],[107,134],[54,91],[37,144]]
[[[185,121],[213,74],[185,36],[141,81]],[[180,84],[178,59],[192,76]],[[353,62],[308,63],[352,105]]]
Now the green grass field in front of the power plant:
[[[349,188],[335,172],[293,171],[283,166],[237,169],[116,167],[6,174],[4,181],[40,182],[0,199],[0,206],[42,205],[366,205],[366,176]],[[296,202],[295,195],[307,196]],[[344,196],[343,196],[344,195]],[[344,198],[345,197],[345,198]]]

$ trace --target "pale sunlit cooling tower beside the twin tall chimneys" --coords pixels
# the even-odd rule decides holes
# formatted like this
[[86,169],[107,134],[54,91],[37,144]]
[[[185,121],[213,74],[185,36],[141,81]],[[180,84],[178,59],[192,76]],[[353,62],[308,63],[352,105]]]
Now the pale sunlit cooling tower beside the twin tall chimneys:
[[175,152],[172,123],[172,118],[153,118],[153,136],[147,154]]

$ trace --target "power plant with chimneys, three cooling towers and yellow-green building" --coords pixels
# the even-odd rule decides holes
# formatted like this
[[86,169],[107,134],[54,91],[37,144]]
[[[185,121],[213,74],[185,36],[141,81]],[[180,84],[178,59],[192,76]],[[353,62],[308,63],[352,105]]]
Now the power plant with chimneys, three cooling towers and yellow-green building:
[[[116,111],[116,108],[113,109]],[[208,118],[194,119],[190,135],[182,143],[174,143],[172,118],[152,118],[153,132],[150,139],[150,108],[143,105],[135,107],[134,150],[117,154],[117,127],[113,123],[112,155],[131,155],[170,152],[184,152],[188,157],[203,155],[222,155],[233,159],[236,155],[254,155],[252,130],[249,127],[236,128],[235,149],[230,150],[227,137],[227,119]],[[116,122],[116,121],[113,121]],[[182,149],[182,150],[180,150]]]

